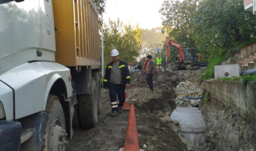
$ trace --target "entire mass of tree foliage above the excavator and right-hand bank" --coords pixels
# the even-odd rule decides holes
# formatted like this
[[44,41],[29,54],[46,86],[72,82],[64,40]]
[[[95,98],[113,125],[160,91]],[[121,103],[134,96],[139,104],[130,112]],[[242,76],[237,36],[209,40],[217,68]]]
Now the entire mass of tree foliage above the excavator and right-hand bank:
[[236,45],[256,33],[256,16],[244,10],[243,0],[165,0],[159,12],[170,38],[207,60],[237,53]]

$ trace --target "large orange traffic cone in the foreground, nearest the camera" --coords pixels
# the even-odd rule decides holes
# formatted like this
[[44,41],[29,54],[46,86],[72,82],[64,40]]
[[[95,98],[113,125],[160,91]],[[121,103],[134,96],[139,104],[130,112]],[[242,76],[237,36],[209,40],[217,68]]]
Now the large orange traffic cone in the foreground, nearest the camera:
[[129,112],[124,148],[120,148],[119,151],[144,151],[143,149],[139,148],[136,118],[133,104],[131,105]]

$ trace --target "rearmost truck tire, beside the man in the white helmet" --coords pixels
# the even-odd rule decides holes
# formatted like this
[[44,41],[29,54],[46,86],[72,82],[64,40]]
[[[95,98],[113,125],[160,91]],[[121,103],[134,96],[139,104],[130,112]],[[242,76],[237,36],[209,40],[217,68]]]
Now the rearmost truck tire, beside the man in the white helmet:
[[96,82],[96,88],[97,88],[97,97],[98,97],[98,114],[101,114],[101,78],[98,74],[98,72],[94,72],[92,74],[95,82]]

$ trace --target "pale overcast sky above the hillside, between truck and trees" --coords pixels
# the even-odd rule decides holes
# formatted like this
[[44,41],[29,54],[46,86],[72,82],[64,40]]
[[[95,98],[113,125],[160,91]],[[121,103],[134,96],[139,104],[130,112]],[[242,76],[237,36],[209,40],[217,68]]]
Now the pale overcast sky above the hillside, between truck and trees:
[[103,20],[116,20],[124,23],[128,20],[140,28],[155,28],[162,25],[161,14],[158,13],[164,0],[107,0],[106,13]]

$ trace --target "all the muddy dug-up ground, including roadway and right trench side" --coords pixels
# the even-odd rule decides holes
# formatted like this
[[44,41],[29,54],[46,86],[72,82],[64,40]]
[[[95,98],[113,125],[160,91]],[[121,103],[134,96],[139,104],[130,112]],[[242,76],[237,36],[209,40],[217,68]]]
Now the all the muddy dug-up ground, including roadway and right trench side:
[[[139,146],[145,151],[198,151],[194,143],[181,136],[178,123],[166,122],[173,109],[179,104],[174,93],[178,92],[183,81],[190,81],[193,86],[202,88],[200,74],[206,68],[199,70],[178,70],[174,73],[155,74],[153,77],[154,92],[149,90],[145,73],[131,73],[131,88],[128,90],[129,104],[134,104]],[[187,82],[186,81],[186,82]],[[177,86],[180,85],[180,86]],[[186,85],[183,85],[186,88]],[[183,90],[182,90],[183,91]],[[194,91],[194,90],[193,90]],[[98,125],[91,129],[74,129],[74,136],[67,145],[67,151],[118,151],[124,147],[129,111],[111,117],[109,91],[102,90],[102,112],[98,117]],[[185,92],[186,93],[186,92]],[[202,94],[203,95],[203,94]],[[178,97],[178,96],[177,96]],[[226,107],[220,101],[204,97],[199,102],[207,127],[204,151],[256,151],[255,123],[241,117],[232,108]],[[188,106],[190,103],[182,103]],[[192,105],[192,103],[191,103]]]

